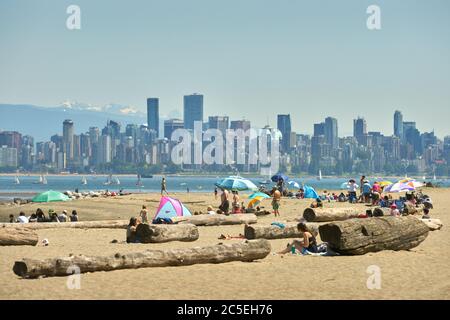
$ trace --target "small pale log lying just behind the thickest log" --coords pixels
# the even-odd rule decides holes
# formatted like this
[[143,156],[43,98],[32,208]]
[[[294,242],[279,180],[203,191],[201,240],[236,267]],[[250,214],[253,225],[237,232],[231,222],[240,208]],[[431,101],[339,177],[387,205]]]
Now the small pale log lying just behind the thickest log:
[[306,208],[303,218],[308,222],[328,222],[357,218],[358,215],[365,214],[364,209],[354,208]]

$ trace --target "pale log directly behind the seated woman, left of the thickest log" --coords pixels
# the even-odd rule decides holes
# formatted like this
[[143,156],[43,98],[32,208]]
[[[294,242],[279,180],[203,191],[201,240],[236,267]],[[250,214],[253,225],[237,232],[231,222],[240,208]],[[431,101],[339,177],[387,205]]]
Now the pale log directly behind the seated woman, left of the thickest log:
[[[306,223],[306,226],[314,236],[318,235],[317,223]],[[284,228],[273,225],[245,225],[244,236],[247,239],[286,239],[301,238],[303,233],[298,231],[297,223],[286,223]]]

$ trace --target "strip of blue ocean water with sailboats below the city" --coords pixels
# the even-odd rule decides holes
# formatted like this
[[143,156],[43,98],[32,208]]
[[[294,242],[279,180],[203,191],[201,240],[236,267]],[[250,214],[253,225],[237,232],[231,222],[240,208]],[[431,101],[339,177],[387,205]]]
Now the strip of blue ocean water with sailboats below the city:
[[[162,176],[155,175],[153,178],[142,178],[142,186],[137,186],[137,177],[135,175],[128,176],[117,176],[120,180],[119,185],[105,185],[107,176],[104,175],[86,175],[87,184],[83,185],[81,183],[82,175],[49,175],[46,176],[47,184],[36,184],[38,181],[37,176],[18,176],[20,184],[15,184],[14,176],[0,176],[0,200],[12,199],[14,197],[30,198],[34,194],[44,192],[47,190],[55,191],[74,191],[78,189],[80,192],[83,191],[98,191],[98,190],[109,190],[109,191],[119,191],[123,190],[126,192],[160,192],[161,190],[161,179]],[[167,180],[167,190],[169,192],[213,192],[214,184],[221,178],[225,176],[166,176]],[[257,186],[260,185],[262,181],[266,180],[267,177],[248,177]],[[293,177],[292,180],[301,184],[306,184],[316,188],[317,190],[337,190],[340,188],[341,184],[348,181],[348,177],[342,178],[323,178],[318,180],[314,177]],[[381,177],[369,177],[373,182],[375,180],[390,180],[396,181],[396,178],[381,178]],[[355,180],[359,180],[356,178]],[[418,179],[421,181],[421,179]],[[450,187],[450,180],[440,180],[436,181],[440,186]]]

